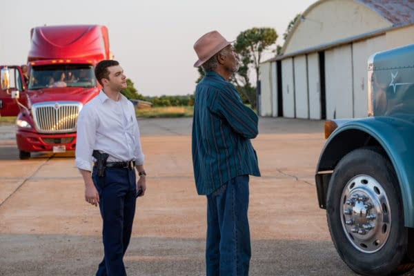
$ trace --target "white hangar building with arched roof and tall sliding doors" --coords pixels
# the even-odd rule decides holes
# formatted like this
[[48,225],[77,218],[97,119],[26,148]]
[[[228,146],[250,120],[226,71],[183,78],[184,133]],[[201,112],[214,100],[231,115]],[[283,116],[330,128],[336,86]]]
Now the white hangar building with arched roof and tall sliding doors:
[[414,1],[320,0],[282,55],[260,65],[259,114],[304,119],[367,115],[367,60],[414,43]]

